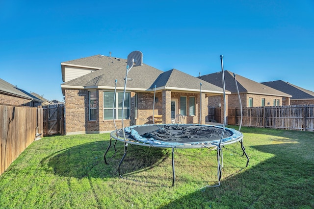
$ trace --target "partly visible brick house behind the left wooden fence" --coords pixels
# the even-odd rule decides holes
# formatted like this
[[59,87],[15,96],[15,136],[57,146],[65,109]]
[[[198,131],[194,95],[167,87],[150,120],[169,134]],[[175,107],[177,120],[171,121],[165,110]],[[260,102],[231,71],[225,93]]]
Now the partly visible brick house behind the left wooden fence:
[[0,78],[0,104],[37,107],[42,100]]

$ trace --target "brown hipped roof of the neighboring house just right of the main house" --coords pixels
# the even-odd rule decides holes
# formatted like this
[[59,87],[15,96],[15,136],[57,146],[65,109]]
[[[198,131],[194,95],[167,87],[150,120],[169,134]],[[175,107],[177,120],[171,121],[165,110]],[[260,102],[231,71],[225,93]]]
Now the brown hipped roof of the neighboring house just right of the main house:
[[[199,76],[198,78],[205,80],[213,85],[222,87],[222,76],[221,72],[215,72],[207,75]],[[261,94],[261,95],[272,95],[272,96],[282,96],[282,97],[291,97],[290,94],[278,91],[276,89],[265,86],[261,83],[255,82],[248,78],[242,77],[240,75],[233,75],[232,72],[225,70],[225,88],[231,93],[237,93],[235,86],[235,78],[237,81],[239,93],[252,93],[252,94]]]

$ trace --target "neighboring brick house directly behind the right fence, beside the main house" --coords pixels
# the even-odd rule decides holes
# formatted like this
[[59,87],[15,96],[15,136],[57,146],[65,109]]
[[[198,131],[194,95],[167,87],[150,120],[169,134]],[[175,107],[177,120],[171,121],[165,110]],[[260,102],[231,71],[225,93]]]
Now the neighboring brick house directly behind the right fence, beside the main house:
[[[288,93],[278,91],[240,75],[235,75],[236,77],[234,77],[233,73],[228,70],[224,71],[224,76],[225,88],[231,92],[230,95],[227,95],[228,99],[226,99],[228,101],[228,107],[239,107],[235,78],[243,107],[281,106],[283,105],[283,100],[289,102],[291,97]],[[198,78],[222,87],[221,72],[202,75]],[[220,96],[209,97],[209,106],[219,107],[221,103]]]

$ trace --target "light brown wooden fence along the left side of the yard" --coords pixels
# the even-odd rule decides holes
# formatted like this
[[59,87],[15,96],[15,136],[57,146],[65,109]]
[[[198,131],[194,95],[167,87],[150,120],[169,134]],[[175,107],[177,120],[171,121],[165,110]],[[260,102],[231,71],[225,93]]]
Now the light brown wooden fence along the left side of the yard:
[[38,116],[34,107],[0,105],[0,174],[41,134]]

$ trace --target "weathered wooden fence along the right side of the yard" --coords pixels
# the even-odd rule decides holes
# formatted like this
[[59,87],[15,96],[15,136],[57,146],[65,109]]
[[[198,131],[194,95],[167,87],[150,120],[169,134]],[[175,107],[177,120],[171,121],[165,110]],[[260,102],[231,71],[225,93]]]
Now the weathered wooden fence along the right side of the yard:
[[[243,126],[314,131],[314,105],[243,107]],[[239,125],[240,108],[228,108],[228,124]]]

